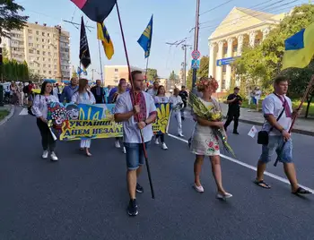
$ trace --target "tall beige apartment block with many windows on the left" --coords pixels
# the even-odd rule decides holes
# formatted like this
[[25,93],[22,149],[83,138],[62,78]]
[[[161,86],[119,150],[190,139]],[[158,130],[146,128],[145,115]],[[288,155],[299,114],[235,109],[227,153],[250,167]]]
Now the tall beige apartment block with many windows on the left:
[[11,39],[3,40],[9,59],[26,61],[30,73],[43,78],[69,80],[70,33],[60,26],[27,23],[22,30],[12,30]]

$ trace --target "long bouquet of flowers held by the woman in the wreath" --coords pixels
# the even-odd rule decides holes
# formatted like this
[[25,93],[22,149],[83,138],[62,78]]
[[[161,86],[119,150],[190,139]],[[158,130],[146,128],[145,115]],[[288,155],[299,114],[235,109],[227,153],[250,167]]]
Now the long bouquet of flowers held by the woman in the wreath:
[[[202,117],[211,122],[221,122],[222,121],[222,111],[213,108],[205,107],[204,103],[196,97],[192,92],[189,94],[188,105],[193,108],[193,112],[196,116]],[[222,140],[222,144],[225,150],[230,152],[234,157],[234,151],[227,142],[225,132],[222,128],[213,128],[214,134]]]

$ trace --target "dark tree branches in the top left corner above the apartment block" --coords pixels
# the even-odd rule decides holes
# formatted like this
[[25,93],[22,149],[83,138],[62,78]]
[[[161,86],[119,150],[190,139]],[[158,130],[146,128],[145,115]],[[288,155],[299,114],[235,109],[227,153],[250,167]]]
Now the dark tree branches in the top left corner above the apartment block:
[[0,4],[0,37],[10,38],[11,30],[21,30],[29,19],[19,13],[24,11],[20,4],[15,4],[13,0],[4,0]]

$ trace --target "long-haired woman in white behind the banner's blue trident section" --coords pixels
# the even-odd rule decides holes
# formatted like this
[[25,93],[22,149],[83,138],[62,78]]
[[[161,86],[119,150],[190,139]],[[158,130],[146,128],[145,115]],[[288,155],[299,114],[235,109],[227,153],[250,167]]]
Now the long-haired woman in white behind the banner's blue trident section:
[[[75,104],[95,104],[96,99],[93,96],[90,86],[88,85],[87,79],[79,80],[79,89],[74,93],[72,97],[72,102]],[[91,139],[81,140],[81,150],[85,150],[86,155],[88,157],[92,157],[92,153],[90,152],[91,148]]]

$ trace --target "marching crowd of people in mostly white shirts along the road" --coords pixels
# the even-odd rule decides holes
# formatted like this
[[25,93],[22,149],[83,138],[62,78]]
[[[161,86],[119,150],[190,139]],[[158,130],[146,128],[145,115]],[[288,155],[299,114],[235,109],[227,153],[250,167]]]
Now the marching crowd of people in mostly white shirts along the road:
[[[41,86],[40,94],[37,95],[31,107],[32,113],[37,117],[37,125],[42,138],[42,148],[44,150],[42,158],[48,158],[48,150],[52,160],[57,160],[55,153],[56,140],[50,133],[47,121],[48,102],[74,102],[76,104],[95,104],[95,103],[115,103],[114,119],[123,124],[123,138],[115,140],[115,146],[126,153],[126,178],[129,193],[129,203],[127,213],[130,216],[138,214],[136,202],[136,192],[143,193],[143,187],[138,183],[137,178],[140,176],[146,150],[149,148],[153,139],[152,124],[156,119],[157,112],[155,103],[171,103],[172,114],[177,122],[177,131],[180,137],[183,137],[182,120],[184,120],[184,109],[187,107],[188,92],[185,87],[182,90],[175,89],[173,95],[166,97],[165,88],[159,85],[158,81],[153,83],[153,88],[144,90],[144,76],[140,71],[131,73],[133,80],[132,88],[127,84],[125,79],[121,79],[116,88],[110,90],[106,96],[105,91],[100,86],[100,81],[90,89],[88,81],[73,78],[71,84],[66,86],[62,91],[60,98],[54,96],[53,85],[50,82],[44,82]],[[218,82],[214,78],[201,78],[197,82],[197,90],[200,92],[199,99],[205,107],[214,111],[221,111],[219,102],[214,99],[213,94],[218,88]],[[264,171],[266,164],[276,152],[280,161],[283,163],[284,173],[288,177],[292,193],[307,194],[308,190],[303,189],[297,182],[294,164],[292,161],[292,138],[288,129],[292,124],[292,117],[300,112],[292,111],[292,101],[286,96],[288,89],[288,80],[283,77],[277,77],[274,82],[274,93],[270,94],[263,100],[263,114],[266,122],[263,125],[262,133],[258,133],[258,141],[263,141],[262,153],[257,163],[257,177],[255,183],[258,186],[269,189],[270,185],[264,181]],[[229,104],[228,118],[225,123],[214,122],[197,116],[192,116],[196,124],[192,137],[189,141],[190,151],[196,155],[194,163],[194,188],[196,192],[205,191],[200,180],[200,173],[205,156],[209,157],[212,164],[212,172],[217,186],[216,197],[219,199],[231,198],[231,193],[225,191],[222,185],[222,167],[220,159],[220,146],[218,137],[214,133],[215,128],[221,128],[227,137],[226,131],[231,121],[234,121],[233,133],[238,133],[238,120],[240,116],[240,105],[242,99],[239,96],[239,88],[234,89],[234,93],[229,95],[226,103]],[[161,148],[167,150],[165,135],[158,134],[154,137],[155,144],[161,141]],[[283,144],[284,142],[284,144]],[[283,146],[283,150],[281,147]],[[91,140],[82,140],[81,150],[85,150],[87,156],[92,156],[90,152]]]

